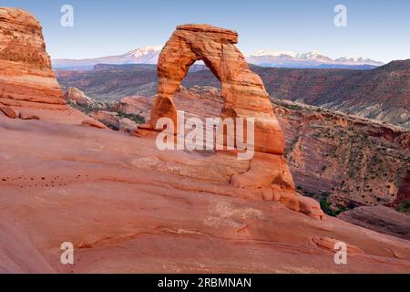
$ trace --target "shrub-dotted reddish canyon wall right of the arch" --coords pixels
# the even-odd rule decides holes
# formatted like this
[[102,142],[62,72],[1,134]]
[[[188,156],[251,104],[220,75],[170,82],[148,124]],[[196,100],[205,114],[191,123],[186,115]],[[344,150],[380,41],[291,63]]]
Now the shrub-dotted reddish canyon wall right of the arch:
[[273,102],[300,192],[328,201],[335,211],[398,201],[408,168],[409,130],[292,101]]

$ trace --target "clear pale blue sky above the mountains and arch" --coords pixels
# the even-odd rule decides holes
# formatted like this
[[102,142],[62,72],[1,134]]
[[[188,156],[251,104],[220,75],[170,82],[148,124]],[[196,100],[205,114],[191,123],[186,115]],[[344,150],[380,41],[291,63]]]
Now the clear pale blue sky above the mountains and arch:
[[[60,7],[74,7],[74,26],[60,26]],[[333,25],[335,5],[347,27]],[[207,23],[235,29],[244,53],[262,48],[329,57],[410,58],[410,1],[377,0],[1,0],[24,8],[44,27],[52,58],[118,55],[167,41],[175,26]]]

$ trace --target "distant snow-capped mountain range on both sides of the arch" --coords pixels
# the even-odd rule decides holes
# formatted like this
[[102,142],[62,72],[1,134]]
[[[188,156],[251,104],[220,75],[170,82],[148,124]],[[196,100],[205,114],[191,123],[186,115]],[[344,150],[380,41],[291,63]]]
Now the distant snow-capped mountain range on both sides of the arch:
[[[145,46],[131,50],[118,56],[85,58],[85,59],[54,59],[53,68],[92,69],[97,64],[157,64],[162,46]],[[294,53],[291,51],[260,50],[247,55],[249,63],[274,68],[356,68],[369,69],[384,65],[367,57],[339,57],[333,59],[320,52]]]

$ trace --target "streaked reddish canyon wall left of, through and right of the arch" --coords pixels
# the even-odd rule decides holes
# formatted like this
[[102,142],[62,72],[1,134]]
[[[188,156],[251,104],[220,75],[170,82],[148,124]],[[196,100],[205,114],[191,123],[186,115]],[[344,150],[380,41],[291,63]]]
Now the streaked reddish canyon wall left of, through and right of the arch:
[[[82,96],[89,99],[83,92]],[[97,114],[91,116],[108,127],[114,123],[111,114],[118,110],[116,125],[125,115],[137,115],[136,128],[150,119],[153,99],[132,96],[93,102],[98,106],[87,110],[94,109]],[[201,120],[223,107],[220,89],[211,87],[182,87],[173,102],[187,118]],[[409,130],[288,100],[272,99],[272,104],[298,192],[327,206],[330,214],[359,206],[395,208],[408,201]]]

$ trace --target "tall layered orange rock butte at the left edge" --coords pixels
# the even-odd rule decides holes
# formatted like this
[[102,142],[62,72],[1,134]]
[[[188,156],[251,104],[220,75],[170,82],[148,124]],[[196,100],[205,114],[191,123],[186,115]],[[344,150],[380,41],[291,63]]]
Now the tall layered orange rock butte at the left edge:
[[0,104],[46,120],[84,118],[67,107],[46,54],[42,27],[16,8],[0,8]]

